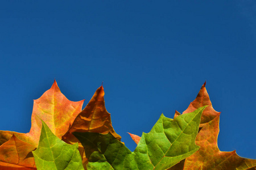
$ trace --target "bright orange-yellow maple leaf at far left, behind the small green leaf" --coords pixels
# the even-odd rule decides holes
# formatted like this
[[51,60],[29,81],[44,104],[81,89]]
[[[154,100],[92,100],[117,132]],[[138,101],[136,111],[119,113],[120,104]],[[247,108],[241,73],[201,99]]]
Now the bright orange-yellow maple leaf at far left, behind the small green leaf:
[[48,91],[34,100],[29,133],[0,131],[0,168],[35,168],[31,151],[38,146],[42,128],[41,120],[46,122],[58,138],[61,138],[72,125],[77,114],[81,112],[83,103],[84,100],[69,101],[54,81]]

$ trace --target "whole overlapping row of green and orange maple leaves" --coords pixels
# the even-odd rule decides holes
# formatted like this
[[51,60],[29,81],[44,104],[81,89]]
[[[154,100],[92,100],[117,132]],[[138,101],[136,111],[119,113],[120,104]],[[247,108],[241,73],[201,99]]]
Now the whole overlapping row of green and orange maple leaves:
[[106,111],[104,89],[97,89],[81,111],[56,81],[34,100],[29,133],[0,131],[0,169],[255,169],[256,160],[217,147],[220,113],[202,86],[174,119],[163,114],[150,133],[130,134],[131,152],[115,133]]

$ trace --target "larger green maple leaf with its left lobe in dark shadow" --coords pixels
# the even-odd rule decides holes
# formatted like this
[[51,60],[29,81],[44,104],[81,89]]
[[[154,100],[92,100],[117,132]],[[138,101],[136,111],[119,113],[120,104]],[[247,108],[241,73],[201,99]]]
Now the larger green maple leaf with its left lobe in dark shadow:
[[205,107],[174,119],[163,114],[150,133],[143,133],[134,152],[112,134],[73,135],[84,146],[87,169],[168,169],[199,150],[195,138]]

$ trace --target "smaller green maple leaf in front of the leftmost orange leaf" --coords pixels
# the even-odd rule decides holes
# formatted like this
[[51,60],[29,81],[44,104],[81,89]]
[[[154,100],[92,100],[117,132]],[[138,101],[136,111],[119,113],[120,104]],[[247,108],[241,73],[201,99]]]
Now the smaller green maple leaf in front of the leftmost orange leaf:
[[48,128],[42,121],[39,146],[32,151],[37,169],[84,169],[78,143],[69,145]]

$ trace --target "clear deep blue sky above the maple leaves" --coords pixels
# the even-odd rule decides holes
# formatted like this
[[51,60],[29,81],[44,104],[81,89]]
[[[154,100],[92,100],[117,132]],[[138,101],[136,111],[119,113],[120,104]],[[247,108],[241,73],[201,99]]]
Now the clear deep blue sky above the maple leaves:
[[[130,150],[207,80],[218,147],[256,159],[256,2],[5,1],[0,5],[0,129],[27,133],[33,99],[56,79],[84,107],[104,81]],[[84,108],[83,107],[83,108]]]

